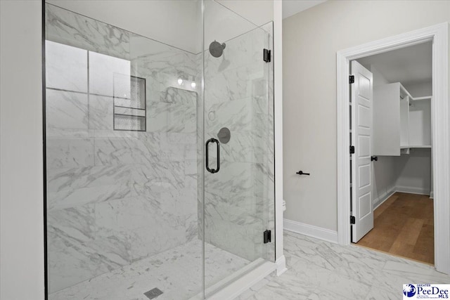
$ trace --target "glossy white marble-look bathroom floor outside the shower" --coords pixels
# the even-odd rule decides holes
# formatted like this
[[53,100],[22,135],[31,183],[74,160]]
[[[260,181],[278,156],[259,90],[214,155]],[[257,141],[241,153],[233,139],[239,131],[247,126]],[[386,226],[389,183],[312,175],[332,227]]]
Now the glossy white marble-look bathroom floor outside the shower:
[[285,232],[288,270],[264,279],[239,300],[402,299],[404,283],[450,283],[432,266],[354,245]]

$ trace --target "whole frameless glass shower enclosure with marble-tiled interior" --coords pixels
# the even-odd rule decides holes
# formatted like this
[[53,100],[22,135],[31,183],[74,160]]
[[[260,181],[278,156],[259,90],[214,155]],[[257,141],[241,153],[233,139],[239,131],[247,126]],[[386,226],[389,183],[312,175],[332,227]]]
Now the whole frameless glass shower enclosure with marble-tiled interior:
[[47,298],[205,299],[274,261],[272,24],[211,0],[44,10]]

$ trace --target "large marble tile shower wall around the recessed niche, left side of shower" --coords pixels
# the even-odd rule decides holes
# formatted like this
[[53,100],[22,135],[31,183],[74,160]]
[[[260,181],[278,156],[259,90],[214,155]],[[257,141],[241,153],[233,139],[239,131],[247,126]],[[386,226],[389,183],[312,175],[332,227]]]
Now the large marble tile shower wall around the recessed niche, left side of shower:
[[[198,94],[176,79],[198,58],[48,4],[46,39],[56,292],[197,238]],[[113,130],[114,73],[146,79],[146,131]]]

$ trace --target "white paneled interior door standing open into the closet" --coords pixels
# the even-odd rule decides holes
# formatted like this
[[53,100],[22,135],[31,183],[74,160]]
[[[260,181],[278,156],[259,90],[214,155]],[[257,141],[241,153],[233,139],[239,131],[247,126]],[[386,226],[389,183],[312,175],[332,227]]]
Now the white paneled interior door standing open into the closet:
[[351,62],[354,83],[352,100],[352,242],[358,242],[373,228],[372,195],[372,73],[356,61]]

